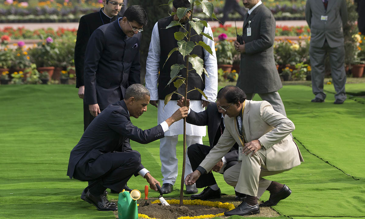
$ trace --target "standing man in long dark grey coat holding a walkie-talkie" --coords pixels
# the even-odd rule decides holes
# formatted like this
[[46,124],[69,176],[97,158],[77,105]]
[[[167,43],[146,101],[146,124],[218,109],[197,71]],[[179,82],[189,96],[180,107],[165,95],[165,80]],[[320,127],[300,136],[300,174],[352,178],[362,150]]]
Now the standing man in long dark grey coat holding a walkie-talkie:
[[243,0],[243,5],[249,11],[243,23],[244,42],[234,42],[235,49],[241,53],[237,87],[245,91],[247,100],[252,100],[258,93],[274,110],[287,116],[277,92],[283,85],[274,60],[274,16],[260,0]]

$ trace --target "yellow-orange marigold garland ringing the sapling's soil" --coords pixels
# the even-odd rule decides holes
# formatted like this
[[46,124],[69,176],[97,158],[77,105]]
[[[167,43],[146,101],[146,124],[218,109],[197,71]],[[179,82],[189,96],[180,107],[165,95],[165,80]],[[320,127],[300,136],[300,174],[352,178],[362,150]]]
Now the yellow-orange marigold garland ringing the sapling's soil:
[[[180,200],[177,199],[171,199],[171,200],[166,200],[167,203],[169,204],[179,204]],[[157,203],[161,203],[160,200],[155,200],[152,201],[151,204],[157,204]],[[211,206],[211,207],[218,207],[218,208],[227,208],[228,210],[232,210],[234,209],[234,205],[228,202],[222,203],[220,201],[203,201],[203,200],[183,200],[183,204],[185,205],[206,205],[206,206]],[[216,214],[216,215],[199,215],[199,216],[181,216],[177,219],[197,219],[197,218],[214,218],[214,217],[218,217],[218,216],[224,216],[223,213],[220,214]],[[138,217],[141,218],[146,218],[146,219],[159,219],[159,218],[150,218],[148,215],[145,214],[138,214]]]

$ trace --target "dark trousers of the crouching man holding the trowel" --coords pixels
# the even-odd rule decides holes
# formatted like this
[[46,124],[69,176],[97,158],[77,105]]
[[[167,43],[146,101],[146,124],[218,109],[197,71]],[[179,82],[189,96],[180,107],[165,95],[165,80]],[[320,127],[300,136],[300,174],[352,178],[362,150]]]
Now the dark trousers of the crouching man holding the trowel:
[[[103,166],[105,160],[112,161],[111,166],[107,169]],[[105,188],[122,191],[127,181],[136,173],[139,165],[141,165],[141,154],[138,151],[106,153],[100,155],[95,161],[79,162],[75,166],[73,177],[81,181],[88,181],[87,188],[99,184]]]

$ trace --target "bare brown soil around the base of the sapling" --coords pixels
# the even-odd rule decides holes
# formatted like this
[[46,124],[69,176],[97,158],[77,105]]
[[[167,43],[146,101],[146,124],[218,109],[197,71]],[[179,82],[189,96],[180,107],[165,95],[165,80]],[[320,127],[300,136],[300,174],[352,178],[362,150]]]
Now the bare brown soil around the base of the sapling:
[[[234,201],[234,198],[235,196],[223,195],[220,199],[211,199],[209,201],[221,201],[222,203],[228,202],[234,204],[235,207],[237,207],[241,203],[241,201]],[[178,199],[178,197],[165,198],[165,199],[166,200]],[[189,200],[190,197],[184,197],[184,200],[185,199]],[[217,208],[205,205],[183,205],[179,207],[178,205],[174,204],[172,204],[171,206],[151,204],[151,201],[154,200],[156,200],[156,198],[149,198],[148,203],[150,203],[150,205],[145,207],[142,206],[145,203],[145,200],[143,198],[137,200],[137,204],[139,204],[138,213],[148,215],[150,218],[176,219],[181,216],[199,216],[199,215],[209,215],[209,214],[216,215],[228,211],[226,208]],[[111,201],[115,203],[118,202],[118,200],[111,200]],[[118,218],[118,211],[114,211],[114,215],[116,218]],[[280,215],[269,207],[262,207],[260,208],[260,214],[249,215],[249,216],[276,217]],[[228,218],[228,217],[220,216],[219,218]],[[139,217],[139,219],[141,219],[141,217]]]

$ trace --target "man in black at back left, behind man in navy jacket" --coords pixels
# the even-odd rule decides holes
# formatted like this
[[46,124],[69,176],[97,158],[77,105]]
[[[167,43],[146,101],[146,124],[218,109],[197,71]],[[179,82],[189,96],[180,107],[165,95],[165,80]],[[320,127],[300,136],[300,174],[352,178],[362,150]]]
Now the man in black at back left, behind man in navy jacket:
[[[103,0],[104,7],[100,11],[84,15],[78,24],[76,44],[75,44],[75,72],[76,88],[78,96],[84,99],[84,58],[85,50],[91,34],[101,25],[111,23],[119,18],[118,12],[124,7],[125,0]],[[140,37],[140,35],[139,35]],[[84,131],[94,119],[89,112],[89,105],[84,105]]]

